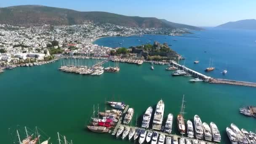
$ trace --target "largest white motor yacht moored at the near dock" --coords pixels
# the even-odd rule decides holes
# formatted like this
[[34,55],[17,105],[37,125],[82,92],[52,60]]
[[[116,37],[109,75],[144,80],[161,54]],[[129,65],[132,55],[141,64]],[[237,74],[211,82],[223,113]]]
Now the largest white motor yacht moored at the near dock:
[[155,110],[155,115],[154,115],[153,125],[152,125],[153,130],[160,130],[161,129],[161,126],[162,126],[162,123],[163,123],[164,109],[165,109],[165,104],[164,104],[163,100],[161,99],[160,101],[158,101],[157,107],[156,107],[156,110]]

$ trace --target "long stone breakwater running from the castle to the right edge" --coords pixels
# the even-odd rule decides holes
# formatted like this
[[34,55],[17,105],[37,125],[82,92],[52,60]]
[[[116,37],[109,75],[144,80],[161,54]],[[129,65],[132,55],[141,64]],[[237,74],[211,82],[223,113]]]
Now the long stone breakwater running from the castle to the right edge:
[[176,67],[180,69],[184,69],[187,73],[193,75],[194,77],[199,77],[200,79],[204,80],[208,83],[216,83],[216,84],[229,84],[229,85],[243,85],[243,86],[250,86],[250,87],[256,87],[256,83],[252,82],[245,82],[245,81],[237,81],[237,80],[227,80],[227,79],[219,79],[219,78],[213,78],[209,77],[207,75],[203,75],[200,72],[196,72],[192,69],[189,69],[187,67],[184,67],[180,64],[177,64],[175,61],[171,61],[171,64],[175,65]]

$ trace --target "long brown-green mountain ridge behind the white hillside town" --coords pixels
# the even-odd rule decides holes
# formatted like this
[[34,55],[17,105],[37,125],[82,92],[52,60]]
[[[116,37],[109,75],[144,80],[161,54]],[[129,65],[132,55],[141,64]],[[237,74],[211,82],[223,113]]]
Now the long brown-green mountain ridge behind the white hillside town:
[[125,27],[202,29],[154,17],[123,16],[100,11],[81,12],[42,5],[19,5],[0,8],[0,13],[0,24],[24,27],[41,26],[42,24],[55,26],[74,25],[91,21],[93,23],[109,23]]

